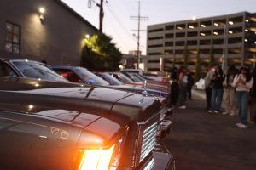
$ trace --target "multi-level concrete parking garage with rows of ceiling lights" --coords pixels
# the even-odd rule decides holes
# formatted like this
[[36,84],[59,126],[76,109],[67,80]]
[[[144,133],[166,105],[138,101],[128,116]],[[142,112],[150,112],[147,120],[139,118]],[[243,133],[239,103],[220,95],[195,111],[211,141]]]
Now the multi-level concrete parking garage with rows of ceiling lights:
[[221,64],[220,58],[224,55],[227,65],[250,65],[256,53],[255,32],[256,15],[247,12],[148,26],[148,71],[161,69],[160,58],[167,68],[171,68],[173,62],[183,65],[186,46],[191,69],[197,52],[200,51],[204,64],[209,62],[211,49],[216,64]]

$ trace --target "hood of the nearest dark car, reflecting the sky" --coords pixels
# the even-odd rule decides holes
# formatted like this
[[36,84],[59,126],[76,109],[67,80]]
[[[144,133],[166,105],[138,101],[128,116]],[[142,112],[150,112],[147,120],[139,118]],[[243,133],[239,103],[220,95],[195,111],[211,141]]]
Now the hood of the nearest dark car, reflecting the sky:
[[[39,84],[35,86],[35,84]],[[50,84],[50,85],[49,85]],[[52,88],[49,88],[52,87]],[[61,88],[57,88],[61,87]],[[86,127],[134,93],[24,78],[0,79],[0,108]]]

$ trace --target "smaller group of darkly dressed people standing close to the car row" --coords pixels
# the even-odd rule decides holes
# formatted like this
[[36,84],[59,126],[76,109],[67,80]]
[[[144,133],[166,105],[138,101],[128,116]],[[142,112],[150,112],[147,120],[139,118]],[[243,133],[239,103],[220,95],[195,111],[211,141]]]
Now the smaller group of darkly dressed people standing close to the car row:
[[186,100],[192,99],[191,89],[194,85],[194,78],[190,71],[186,71],[183,68],[177,70],[174,68],[171,72],[171,105],[178,105],[178,108],[186,108]]

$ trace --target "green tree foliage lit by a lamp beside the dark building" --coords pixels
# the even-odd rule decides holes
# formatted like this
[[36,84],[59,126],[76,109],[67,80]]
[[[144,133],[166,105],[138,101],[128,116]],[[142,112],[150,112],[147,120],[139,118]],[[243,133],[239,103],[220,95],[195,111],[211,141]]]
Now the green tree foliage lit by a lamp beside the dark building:
[[98,34],[84,40],[80,65],[90,71],[117,71],[122,54],[112,38]]

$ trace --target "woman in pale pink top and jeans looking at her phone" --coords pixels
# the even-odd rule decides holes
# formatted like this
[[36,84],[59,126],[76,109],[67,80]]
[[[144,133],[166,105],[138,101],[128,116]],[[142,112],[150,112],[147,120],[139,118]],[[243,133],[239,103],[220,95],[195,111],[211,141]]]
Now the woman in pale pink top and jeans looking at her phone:
[[240,122],[236,123],[239,128],[247,128],[248,103],[250,89],[253,87],[253,77],[246,66],[241,67],[240,73],[236,74],[232,86],[236,88],[236,101]]

